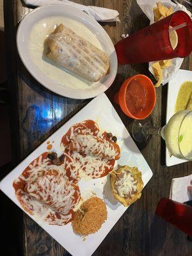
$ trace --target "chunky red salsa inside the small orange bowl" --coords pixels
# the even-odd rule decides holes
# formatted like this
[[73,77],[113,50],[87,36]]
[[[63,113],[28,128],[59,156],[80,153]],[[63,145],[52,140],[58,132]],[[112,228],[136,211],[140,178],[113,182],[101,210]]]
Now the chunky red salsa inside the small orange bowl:
[[125,101],[132,115],[136,115],[146,108],[147,90],[137,79],[133,79],[127,86]]

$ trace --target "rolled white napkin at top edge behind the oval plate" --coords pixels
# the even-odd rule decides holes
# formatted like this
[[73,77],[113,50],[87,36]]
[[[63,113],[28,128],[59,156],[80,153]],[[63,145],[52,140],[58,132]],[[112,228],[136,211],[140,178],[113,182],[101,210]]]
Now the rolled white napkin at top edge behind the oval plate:
[[118,19],[119,13],[116,10],[96,6],[84,6],[83,4],[73,3],[68,0],[24,0],[24,3],[33,6],[41,6],[44,4],[67,4],[68,6],[72,6],[87,13],[97,21],[120,21],[120,19]]

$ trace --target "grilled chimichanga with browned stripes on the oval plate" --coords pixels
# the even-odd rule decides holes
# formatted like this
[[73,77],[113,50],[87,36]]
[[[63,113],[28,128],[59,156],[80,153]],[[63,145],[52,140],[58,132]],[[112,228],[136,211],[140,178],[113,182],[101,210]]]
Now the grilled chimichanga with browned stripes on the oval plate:
[[47,57],[70,72],[93,82],[109,73],[108,55],[60,24],[47,38]]

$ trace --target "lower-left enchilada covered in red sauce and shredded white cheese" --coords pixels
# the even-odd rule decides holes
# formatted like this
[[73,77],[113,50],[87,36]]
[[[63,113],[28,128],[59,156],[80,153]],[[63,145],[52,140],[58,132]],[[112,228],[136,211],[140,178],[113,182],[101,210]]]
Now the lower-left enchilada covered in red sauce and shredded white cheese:
[[63,225],[72,219],[72,209],[78,203],[80,193],[69,182],[64,165],[49,162],[40,156],[29,164],[28,171],[15,180],[15,184],[25,183],[24,189],[16,191],[16,196],[22,207],[36,218]]

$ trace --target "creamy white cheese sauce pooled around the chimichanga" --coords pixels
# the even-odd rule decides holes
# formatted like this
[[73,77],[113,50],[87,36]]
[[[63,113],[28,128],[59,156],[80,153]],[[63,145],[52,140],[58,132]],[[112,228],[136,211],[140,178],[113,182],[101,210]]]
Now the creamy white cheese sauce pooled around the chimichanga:
[[44,42],[47,36],[54,31],[56,26],[63,24],[72,29],[79,36],[82,36],[85,40],[92,43],[96,47],[102,50],[100,42],[95,35],[84,26],[81,22],[68,19],[65,17],[49,17],[38,21],[31,29],[29,35],[28,49],[31,56],[31,60],[35,63],[36,67],[49,79],[65,86],[74,89],[86,89],[93,84],[93,82],[87,81],[82,77],[76,76],[60,67],[54,61],[49,60],[44,54]]

